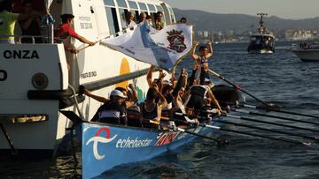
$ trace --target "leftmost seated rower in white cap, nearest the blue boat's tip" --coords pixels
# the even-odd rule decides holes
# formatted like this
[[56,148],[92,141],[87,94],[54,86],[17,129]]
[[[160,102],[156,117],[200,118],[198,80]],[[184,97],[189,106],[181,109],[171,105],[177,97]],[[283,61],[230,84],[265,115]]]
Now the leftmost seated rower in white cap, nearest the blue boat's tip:
[[123,102],[127,98],[121,91],[113,90],[110,94],[110,101],[97,109],[97,113],[91,119],[91,122],[127,124],[126,109]]

